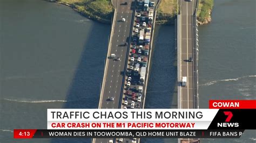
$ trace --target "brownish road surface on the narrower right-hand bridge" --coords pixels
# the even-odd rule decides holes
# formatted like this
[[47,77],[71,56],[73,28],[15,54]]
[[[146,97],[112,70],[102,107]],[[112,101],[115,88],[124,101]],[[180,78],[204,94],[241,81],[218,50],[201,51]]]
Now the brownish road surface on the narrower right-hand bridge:
[[192,16],[194,10],[196,9],[197,1],[193,0],[188,2],[188,0],[180,0],[181,5],[181,61],[180,61],[180,79],[184,76],[187,77],[186,87],[181,87],[181,108],[182,109],[193,109],[193,62],[188,62],[188,59],[192,57],[193,51],[193,25]]

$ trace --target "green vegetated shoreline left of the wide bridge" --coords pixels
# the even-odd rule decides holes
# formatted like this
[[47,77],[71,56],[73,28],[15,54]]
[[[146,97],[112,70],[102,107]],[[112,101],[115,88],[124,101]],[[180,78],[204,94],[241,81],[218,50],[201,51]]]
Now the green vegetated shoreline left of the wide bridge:
[[110,23],[114,12],[111,0],[57,0],[57,2],[69,4],[82,15],[103,23]]

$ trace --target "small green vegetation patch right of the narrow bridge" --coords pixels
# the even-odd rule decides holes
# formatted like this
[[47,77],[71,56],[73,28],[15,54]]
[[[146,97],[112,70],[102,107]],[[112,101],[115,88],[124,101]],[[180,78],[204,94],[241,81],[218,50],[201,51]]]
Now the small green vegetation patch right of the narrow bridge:
[[199,22],[207,22],[211,19],[211,10],[213,8],[213,0],[200,0],[198,6],[198,20]]

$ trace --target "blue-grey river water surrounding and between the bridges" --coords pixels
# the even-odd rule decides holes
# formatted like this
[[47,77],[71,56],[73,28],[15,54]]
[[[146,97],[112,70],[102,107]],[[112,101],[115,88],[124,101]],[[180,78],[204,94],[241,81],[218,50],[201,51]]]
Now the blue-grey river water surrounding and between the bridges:
[[[48,108],[97,108],[110,25],[43,0],[0,0],[0,18],[0,142],[28,141],[12,139],[12,130],[46,128]],[[199,26],[200,108],[208,99],[256,99],[255,1],[215,1],[212,19]],[[177,108],[174,31],[156,28],[146,108]],[[241,139],[203,142],[255,140],[246,131]]]

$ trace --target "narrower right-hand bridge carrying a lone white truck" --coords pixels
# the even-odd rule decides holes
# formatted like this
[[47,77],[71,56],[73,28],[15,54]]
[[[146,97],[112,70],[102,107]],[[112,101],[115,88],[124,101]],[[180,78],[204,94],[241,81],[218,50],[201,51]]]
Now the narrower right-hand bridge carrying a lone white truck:
[[[177,16],[178,108],[198,108],[198,25],[199,0],[179,0]],[[179,139],[178,142],[199,142]]]

